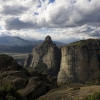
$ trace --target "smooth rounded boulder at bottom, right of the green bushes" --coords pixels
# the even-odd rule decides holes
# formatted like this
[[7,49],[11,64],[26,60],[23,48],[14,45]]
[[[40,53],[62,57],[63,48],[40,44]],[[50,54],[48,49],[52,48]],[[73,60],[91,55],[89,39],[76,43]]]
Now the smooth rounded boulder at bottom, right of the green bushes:
[[28,85],[18,92],[25,96],[27,100],[35,100],[46,93],[46,84],[39,78],[32,77],[30,78]]

